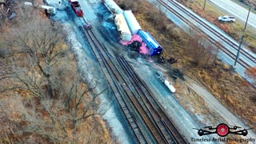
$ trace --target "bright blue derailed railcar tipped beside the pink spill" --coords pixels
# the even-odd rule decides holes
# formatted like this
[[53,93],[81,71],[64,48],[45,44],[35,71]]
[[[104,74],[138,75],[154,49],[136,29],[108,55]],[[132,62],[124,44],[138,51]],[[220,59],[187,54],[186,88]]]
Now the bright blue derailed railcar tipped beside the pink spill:
[[142,38],[142,41],[146,43],[147,48],[150,50],[150,55],[158,55],[162,53],[162,46],[153,38],[153,36],[143,30],[138,30],[138,35]]

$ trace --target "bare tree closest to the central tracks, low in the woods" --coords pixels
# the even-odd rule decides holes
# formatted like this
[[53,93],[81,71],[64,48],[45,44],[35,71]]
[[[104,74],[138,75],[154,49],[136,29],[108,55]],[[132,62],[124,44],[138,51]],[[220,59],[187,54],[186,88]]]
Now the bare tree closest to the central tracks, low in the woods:
[[[70,83],[68,86],[62,85],[62,91],[66,95],[66,97],[63,97],[65,98],[66,110],[68,110],[70,114],[72,142],[74,143],[79,142],[81,139],[83,140],[84,135],[79,135],[77,133],[78,126],[86,121],[87,118],[99,114],[95,111],[98,110],[96,98],[106,91],[105,89],[97,93],[97,90],[95,89],[98,84],[93,82],[94,79],[92,79],[87,86],[84,86],[82,78],[78,75],[80,74],[74,75],[74,78],[72,78],[74,79],[74,82]],[[93,135],[87,136],[89,136],[88,140],[93,137]]]

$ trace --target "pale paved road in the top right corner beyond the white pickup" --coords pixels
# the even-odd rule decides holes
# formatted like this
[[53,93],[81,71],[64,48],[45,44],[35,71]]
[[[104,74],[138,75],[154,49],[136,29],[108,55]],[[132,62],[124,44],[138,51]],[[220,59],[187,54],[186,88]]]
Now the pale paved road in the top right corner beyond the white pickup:
[[[214,3],[216,6],[226,11],[228,15],[234,15],[236,18],[241,19],[243,22],[246,22],[248,10],[238,4],[230,1],[230,0],[210,0],[210,2]],[[247,26],[252,26],[256,29],[256,14],[250,12],[250,16],[248,19]]]

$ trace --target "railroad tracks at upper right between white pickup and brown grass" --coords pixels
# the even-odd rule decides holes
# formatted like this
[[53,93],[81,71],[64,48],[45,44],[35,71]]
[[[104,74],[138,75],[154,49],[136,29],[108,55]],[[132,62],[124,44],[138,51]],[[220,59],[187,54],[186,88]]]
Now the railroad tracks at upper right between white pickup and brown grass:
[[[196,26],[196,24],[194,22],[198,22],[198,24],[200,24],[203,28],[205,28],[206,30],[209,30],[212,34],[214,34],[214,36],[220,38],[223,42],[225,42],[227,45],[232,47],[234,50],[238,50],[238,43],[237,42],[234,42],[234,41],[230,40],[230,38],[227,38],[227,36],[225,34],[220,33],[218,30],[214,30],[213,27],[209,26],[209,24],[202,21],[200,18],[194,16],[194,14],[191,14],[190,11],[186,10],[178,2],[173,1],[173,0],[168,0],[167,1],[167,2],[170,2],[173,6],[175,6],[178,10],[182,11],[184,14],[186,14],[190,18],[192,18],[194,20],[194,22],[191,22],[191,20],[187,19],[185,16],[180,14],[173,7],[169,6],[166,1],[163,1],[163,0],[157,0],[157,1],[160,4],[162,4],[162,6],[165,6],[167,10],[170,10],[170,12],[172,12],[173,14],[178,16],[178,18],[182,19],[183,22],[186,22],[186,24],[191,26],[193,29],[201,31],[202,33],[208,35],[208,40],[211,43],[213,43],[215,46],[218,46],[220,48],[220,50],[222,50],[225,54],[229,55],[230,58],[233,58],[233,59],[236,58],[236,54],[234,54],[234,52],[227,49],[225,46],[219,46],[218,42],[212,36],[210,36],[210,34],[207,34],[202,29],[199,29],[198,26]],[[245,58],[248,58],[250,60],[250,62],[253,62],[254,64],[256,64],[256,58],[254,57],[254,55],[248,53],[246,50],[243,50],[243,49],[241,50],[240,54],[242,54]],[[238,59],[238,63],[241,64],[245,68],[254,66],[254,65],[250,65],[250,62],[245,62],[244,60],[242,60],[242,58]]]

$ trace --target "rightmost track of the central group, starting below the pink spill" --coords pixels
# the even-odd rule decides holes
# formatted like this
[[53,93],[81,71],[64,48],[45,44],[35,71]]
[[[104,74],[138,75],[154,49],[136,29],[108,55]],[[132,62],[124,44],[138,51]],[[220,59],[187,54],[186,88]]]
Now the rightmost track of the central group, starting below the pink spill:
[[155,121],[162,130],[162,134],[166,138],[167,143],[187,143],[185,138],[178,132],[176,126],[170,121],[165,110],[162,109],[161,105],[154,99],[153,94],[146,87],[146,84],[138,76],[132,66],[126,61],[125,58],[119,57],[118,62],[121,63],[122,68],[129,75],[130,80],[134,85],[137,86],[139,98],[146,103],[146,108],[152,113]]

